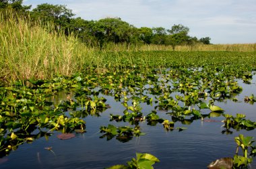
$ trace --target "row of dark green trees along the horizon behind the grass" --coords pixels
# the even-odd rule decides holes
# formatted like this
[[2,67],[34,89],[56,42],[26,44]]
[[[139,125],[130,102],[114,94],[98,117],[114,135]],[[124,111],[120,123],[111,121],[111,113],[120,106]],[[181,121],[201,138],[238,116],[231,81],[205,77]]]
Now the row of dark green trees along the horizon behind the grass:
[[67,36],[74,34],[88,44],[102,48],[107,43],[123,44],[160,44],[175,46],[197,43],[210,44],[210,37],[189,36],[189,27],[174,24],[170,30],[164,27],[135,27],[119,17],[106,17],[98,21],[88,21],[74,17],[71,9],[65,5],[42,3],[31,9],[31,5],[22,5],[22,0],[0,0],[0,9],[13,9],[19,15],[29,16],[32,21],[51,23],[57,32]]

